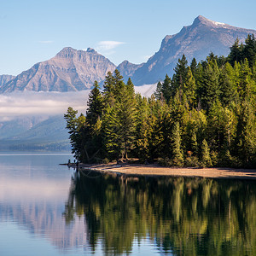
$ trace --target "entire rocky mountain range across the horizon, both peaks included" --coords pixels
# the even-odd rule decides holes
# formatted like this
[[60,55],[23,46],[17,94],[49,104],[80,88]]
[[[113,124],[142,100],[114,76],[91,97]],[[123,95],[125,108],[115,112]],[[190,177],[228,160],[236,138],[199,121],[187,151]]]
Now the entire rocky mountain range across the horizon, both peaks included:
[[125,81],[131,77],[135,85],[154,84],[164,79],[166,73],[172,75],[178,58],[183,54],[189,62],[193,57],[197,61],[204,60],[211,51],[226,56],[236,38],[244,41],[247,34],[256,35],[256,31],[208,20],[200,15],[191,26],[183,26],[177,34],[166,36],[159,51],[146,63],[137,65],[123,61],[116,67],[94,49],[84,51],[67,47],[49,61],[39,62],[16,77],[0,76],[0,93],[90,89],[95,80],[101,84],[108,71],[113,72],[115,68]]

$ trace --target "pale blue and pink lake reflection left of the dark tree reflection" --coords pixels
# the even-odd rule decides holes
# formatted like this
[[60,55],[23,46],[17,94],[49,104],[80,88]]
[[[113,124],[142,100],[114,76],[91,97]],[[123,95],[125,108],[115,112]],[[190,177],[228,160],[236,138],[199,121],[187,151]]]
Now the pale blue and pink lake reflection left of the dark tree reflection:
[[67,224],[63,216],[71,173],[59,163],[68,158],[62,154],[0,155],[0,255],[84,250],[88,240],[84,217]]

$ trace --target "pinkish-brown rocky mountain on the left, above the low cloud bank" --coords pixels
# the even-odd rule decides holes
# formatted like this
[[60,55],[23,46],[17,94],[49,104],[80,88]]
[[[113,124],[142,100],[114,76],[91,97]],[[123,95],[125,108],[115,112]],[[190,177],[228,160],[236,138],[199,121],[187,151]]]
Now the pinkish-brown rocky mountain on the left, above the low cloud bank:
[[3,84],[0,93],[90,89],[95,80],[101,83],[108,71],[113,72],[115,68],[111,61],[94,49],[84,51],[67,47],[49,61],[39,62]]

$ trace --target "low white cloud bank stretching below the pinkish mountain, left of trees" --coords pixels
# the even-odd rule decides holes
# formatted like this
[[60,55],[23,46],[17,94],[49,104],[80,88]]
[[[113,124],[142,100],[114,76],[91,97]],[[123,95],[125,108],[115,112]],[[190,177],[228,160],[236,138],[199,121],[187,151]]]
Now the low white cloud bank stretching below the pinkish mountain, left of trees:
[[14,92],[0,95],[0,121],[20,116],[56,115],[73,107],[84,113],[90,90],[74,92]]

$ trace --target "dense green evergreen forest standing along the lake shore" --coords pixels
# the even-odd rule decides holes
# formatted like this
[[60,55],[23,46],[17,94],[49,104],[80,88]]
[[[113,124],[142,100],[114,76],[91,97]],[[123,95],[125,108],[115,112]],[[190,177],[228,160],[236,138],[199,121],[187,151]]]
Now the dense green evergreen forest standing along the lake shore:
[[256,40],[210,54],[142,97],[131,79],[108,73],[90,92],[86,116],[65,114],[73,154],[86,163],[137,158],[165,166],[256,166]]

